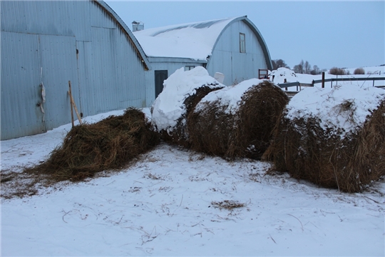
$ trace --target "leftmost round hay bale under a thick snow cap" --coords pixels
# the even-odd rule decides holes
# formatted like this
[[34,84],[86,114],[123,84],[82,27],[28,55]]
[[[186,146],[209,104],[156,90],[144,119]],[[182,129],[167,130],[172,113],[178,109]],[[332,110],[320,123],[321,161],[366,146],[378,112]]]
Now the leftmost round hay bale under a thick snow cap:
[[223,87],[201,66],[190,71],[178,69],[164,81],[163,91],[153,103],[153,125],[165,141],[188,147],[188,114],[200,99]]

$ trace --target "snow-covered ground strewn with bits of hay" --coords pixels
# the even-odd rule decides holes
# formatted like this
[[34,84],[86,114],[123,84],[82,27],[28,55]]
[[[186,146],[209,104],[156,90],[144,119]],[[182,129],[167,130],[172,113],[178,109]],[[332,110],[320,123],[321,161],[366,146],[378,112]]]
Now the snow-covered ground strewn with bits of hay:
[[[69,129],[1,141],[1,173],[45,160]],[[123,171],[2,198],[1,256],[384,256],[384,182],[339,193],[270,167],[161,143]]]

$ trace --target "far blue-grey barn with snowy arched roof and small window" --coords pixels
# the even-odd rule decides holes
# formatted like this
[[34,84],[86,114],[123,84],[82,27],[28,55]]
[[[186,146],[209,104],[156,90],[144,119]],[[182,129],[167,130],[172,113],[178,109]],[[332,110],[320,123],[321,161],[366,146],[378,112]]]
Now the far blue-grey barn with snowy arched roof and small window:
[[155,96],[163,89],[163,80],[181,67],[204,66],[210,76],[220,72],[227,86],[257,78],[259,69],[272,69],[265,40],[247,16],[143,29],[133,34],[153,67],[148,84],[155,83]]

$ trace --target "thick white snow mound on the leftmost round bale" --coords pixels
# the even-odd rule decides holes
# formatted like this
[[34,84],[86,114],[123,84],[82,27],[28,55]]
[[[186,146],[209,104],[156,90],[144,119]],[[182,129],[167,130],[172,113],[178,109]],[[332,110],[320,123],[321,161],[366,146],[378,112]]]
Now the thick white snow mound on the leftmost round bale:
[[202,66],[190,71],[180,68],[164,81],[163,91],[153,103],[152,122],[158,131],[165,130],[168,133],[173,131],[178,120],[183,118],[187,111],[185,99],[195,94],[202,86],[211,89],[225,87],[210,76]]

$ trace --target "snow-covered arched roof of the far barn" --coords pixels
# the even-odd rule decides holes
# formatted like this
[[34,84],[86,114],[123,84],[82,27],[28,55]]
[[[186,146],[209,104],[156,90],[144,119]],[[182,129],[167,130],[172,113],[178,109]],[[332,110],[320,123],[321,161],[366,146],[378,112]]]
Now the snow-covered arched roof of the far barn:
[[252,21],[247,19],[247,16],[163,26],[135,31],[133,34],[149,57],[188,58],[207,61],[207,56],[212,55],[212,50],[215,49],[215,45],[223,31],[237,21],[244,21],[257,36],[267,60],[267,68],[272,69],[270,53],[265,40]]

